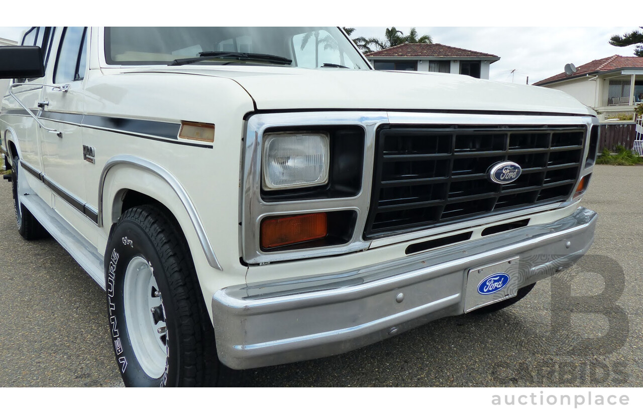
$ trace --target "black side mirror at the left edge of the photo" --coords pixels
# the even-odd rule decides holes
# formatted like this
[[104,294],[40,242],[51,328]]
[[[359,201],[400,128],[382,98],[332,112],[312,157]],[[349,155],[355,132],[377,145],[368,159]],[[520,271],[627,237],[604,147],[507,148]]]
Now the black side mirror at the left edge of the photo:
[[42,78],[44,63],[40,46],[0,47],[0,79]]

